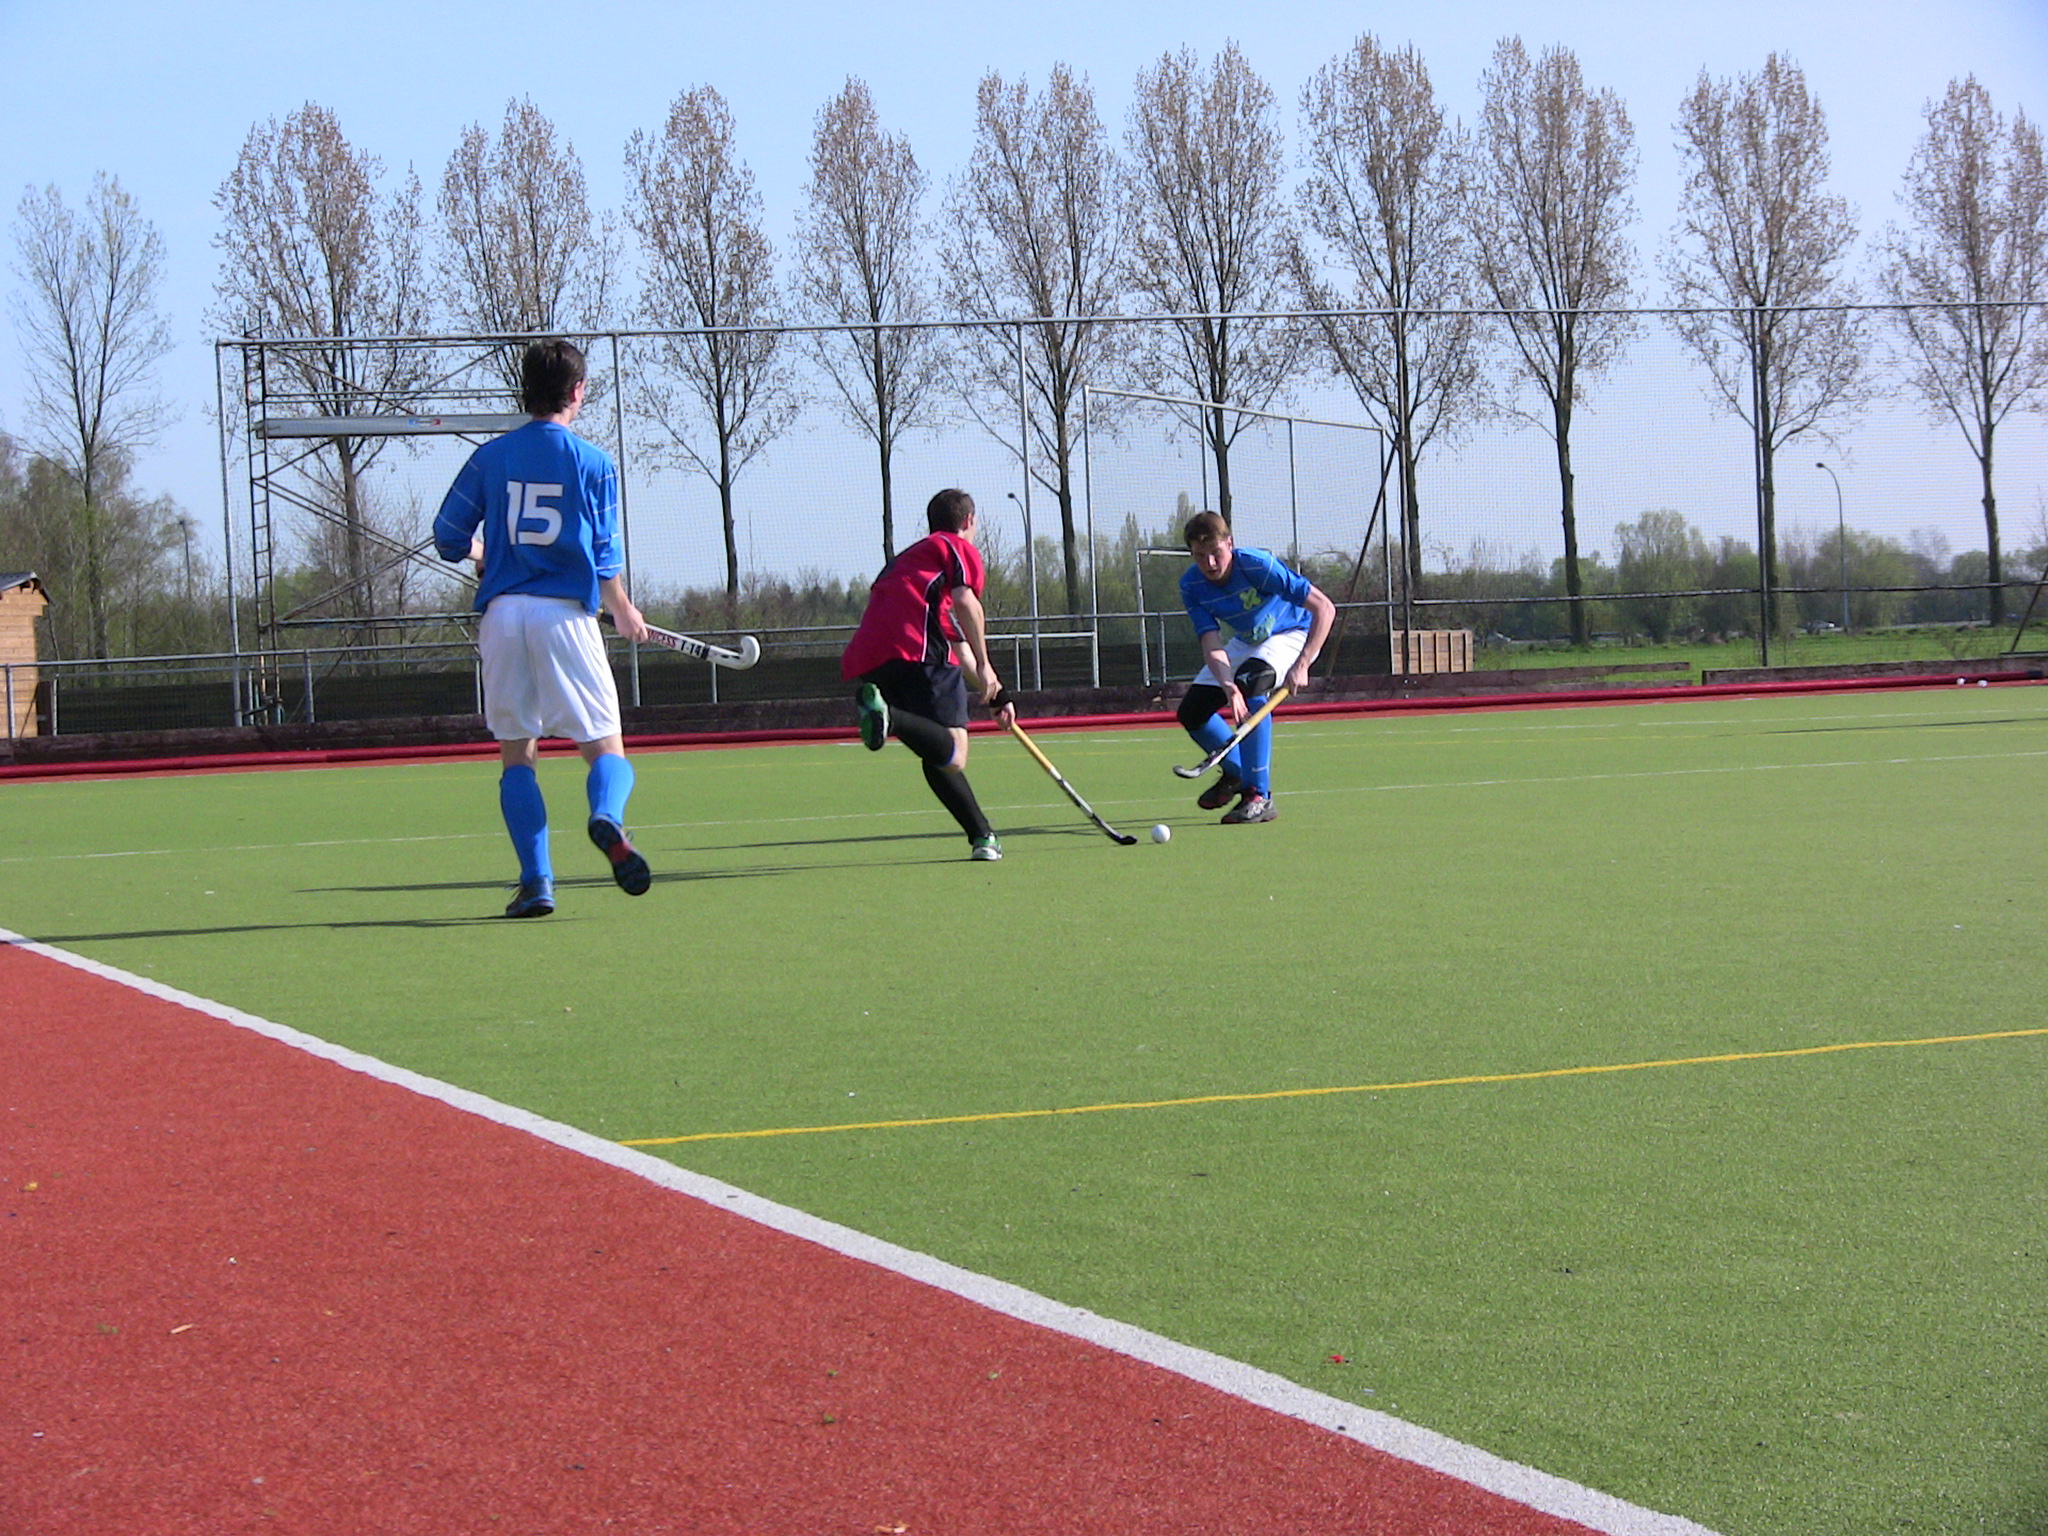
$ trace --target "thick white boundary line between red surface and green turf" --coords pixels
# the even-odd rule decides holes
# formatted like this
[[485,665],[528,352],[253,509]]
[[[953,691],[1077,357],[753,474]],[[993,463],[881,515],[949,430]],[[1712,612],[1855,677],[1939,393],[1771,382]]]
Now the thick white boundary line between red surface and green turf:
[[289,1028],[287,1024],[274,1024],[258,1014],[246,1014],[240,1008],[229,1008],[209,997],[197,997],[188,991],[178,991],[176,987],[166,987],[160,981],[131,975],[117,967],[90,961],[82,954],[72,954],[70,950],[37,944],[35,940],[6,928],[0,928],[0,944],[10,944],[29,954],[41,954],[43,958],[57,961],[59,965],[84,971],[86,975],[115,981],[150,997],[160,997],[168,1004],[188,1008],[195,1014],[205,1014],[238,1028],[252,1030],[254,1034],[279,1040],[281,1044],[305,1051],[311,1057],[332,1061],[383,1083],[406,1087],[422,1098],[438,1100],[483,1120],[524,1130],[541,1141],[549,1141],[594,1161],[635,1174],[649,1184],[692,1196],[705,1204],[729,1210],[735,1217],[745,1217],[762,1227],[786,1233],[788,1237],[817,1243],[819,1247],[862,1260],[881,1270],[934,1286],[936,1290],[952,1292],[954,1296],[987,1307],[1004,1317],[1034,1323],[1055,1333],[1081,1339],[1083,1343],[1094,1343],[1130,1360],[1157,1366],[1159,1370],[1169,1370],[1178,1376],[1186,1376],[1188,1380],[1202,1382],[1204,1386],[1214,1386],[1217,1391],[1229,1393],[1245,1403],[1272,1409],[1274,1413],[1317,1425],[1319,1430],[1329,1430],[1331,1434],[1356,1440],[1372,1450],[1399,1456],[1401,1460],[1415,1462],[1417,1466],[1425,1466],[1434,1473],[1444,1473],[1462,1483],[1485,1489],[1487,1493],[1497,1493],[1503,1499],[1513,1499],[1516,1503],[1524,1503],[1540,1513],[1575,1520],[1589,1530],[1606,1532],[1606,1536],[1716,1536],[1712,1530],[1694,1524],[1692,1520],[1645,1509],[1642,1505],[1628,1503],[1626,1499],[1616,1499],[1610,1493],[1599,1493],[1597,1489],[1569,1483],[1563,1477],[1540,1473],[1534,1466],[1503,1460],[1501,1456],[1479,1450],[1477,1446],[1466,1446],[1460,1440],[1436,1434],[1434,1430],[1423,1430],[1421,1425],[1407,1423],[1405,1419],[1397,1419],[1389,1413],[1378,1413],[1356,1403],[1346,1403],[1339,1397],[1317,1393],[1309,1386],[1300,1386],[1298,1382],[1290,1382],[1284,1376],[1276,1376],[1270,1370],[1227,1360],[1225,1356],[1210,1354],[1208,1350],[1176,1343],[1159,1333],[1149,1333],[1141,1327],[1100,1317],[1083,1311],[1081,1307],[1067,1307],[1065,1303],[1040,1296],[1034,1290],[1024,1290],[1022,1286],[1014,1286],[1006,1280],[963,1270],[954,1264],[946,1264],[944,1260],[936,1260],[930,1253],[918,1253],[879,1237],[868,1237],[852,1227],[842,1227],[834,1221],[807,1214],[793,1206],[764,1200],[758,1194],[748,1194],[745,1190],[721,1180],[692,1174],[686,1167],[676,1167],[662,1157],[635,1151],[633,1147],[621,1147],[618,1143],[604,1141],[588,1130],[547,1120],[512,1104],[500,1104],[498,1100],[473,1094],[467,1087],[455,1087],[453,1083],[424,1077],[416,1071],[408,1071],[406,1067],[393,1067],[377,1057],[348,1051],[346,1047],[332,1044],[330,1040],[305,1034],[303,1030]]

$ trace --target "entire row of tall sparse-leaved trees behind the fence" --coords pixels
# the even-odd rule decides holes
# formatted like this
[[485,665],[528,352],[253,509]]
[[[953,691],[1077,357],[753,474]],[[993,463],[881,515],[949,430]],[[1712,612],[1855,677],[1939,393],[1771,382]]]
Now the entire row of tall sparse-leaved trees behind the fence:
[[[1163,53],[1139,74],[1120,135],[1067,66],[1038,88],[989,72],[969,162],[934,186],[850,78],[817,113],[782,258],[713,86],[682,90],[659,127],[631,135],[616,213],[590,205],[573,145],[530,100],[463,133],[432,201],[414,170],[389,176],[309,102],[252,127],[219,186],[207,317],[227,336],[393,338],[272,354],[322,416],[403,412],[434,383],[403,338],[436,330],[664,332],[635,420],[666,463],[715,489],[729,604],[741,590],[735,485],[805,403],[799,360],[872,444],[885,559],[901,442],[965,410],[1057,506],[1069,612],[1085,610],[1090,385],[1180,401],[1225,516],[1231,451],[1255,420],[1241,412],[1309,381],[1350,387],[1399,461],[1395,547],[1417,596],[1442,582],[1423,571],[1430,453],[1513,414],[1554,446],[1559,580],[1581,598],[1565,612],[1585,643],[1593,561],[1575,414],[1645,324],[1636,311],[1663,303],[1718,408],[1755,442],[1767,623],[1788,586],[1776,461],[1853,420],[1880,346],[1978,465],[2003,618],[1995,442],[2011,412],[2048,401],[2048,170],[2036,125],[2003,115],[1974,78],[1927,104],[1901,217],[1858,272],[1858,221],[1829,190],[1827,119],[1800,68],[1772,55],[1755,74],[1702,72],[1673,125],[1686,182],[1655,258],[1659,295],[1630,236],[1634,125],[1565,47],[1532,55],[1503,39],[1479,119],[1462,125],[1413,47],[1364,35],[1300,88],[1292,156],[1284,127],[1235,45]],[[168,348],[154,311],[162,242],[109,176],[80,211],[31,190],[14,233],[16,326],[37,377],[27,449],[68,496],[98,614],[86,645],[104,649],[121,473],[168,420],[152,385]],[[1114,315],[1159,322],[1102,324]],[[969,328],[942,344],[932,322]],[[342,590],[365,592],[375,573],[367,473],[389,442],[336,436],[303,465]]]

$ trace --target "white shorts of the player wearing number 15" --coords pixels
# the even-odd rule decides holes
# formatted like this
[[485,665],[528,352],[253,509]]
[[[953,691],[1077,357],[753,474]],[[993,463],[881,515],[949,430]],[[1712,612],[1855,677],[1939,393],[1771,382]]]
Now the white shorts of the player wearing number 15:
[[598,621],[571,598],[502,592],[477,625],[483,723],[500,741],[618,735],[618,684]]

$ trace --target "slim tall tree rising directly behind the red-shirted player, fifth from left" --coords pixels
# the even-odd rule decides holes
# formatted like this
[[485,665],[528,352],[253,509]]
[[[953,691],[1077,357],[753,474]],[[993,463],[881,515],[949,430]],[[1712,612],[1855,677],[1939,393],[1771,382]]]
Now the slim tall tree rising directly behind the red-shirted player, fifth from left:
[[895,449],[928,418],[938,360],[918,246],[926,174],[909,139],[883,131],[866,84],[817,113],[809,209],[799,221],[797,293],[809,319],[862,326],[813,336],[848,420],[874,440],[883,489],[883,561],[895,557]]

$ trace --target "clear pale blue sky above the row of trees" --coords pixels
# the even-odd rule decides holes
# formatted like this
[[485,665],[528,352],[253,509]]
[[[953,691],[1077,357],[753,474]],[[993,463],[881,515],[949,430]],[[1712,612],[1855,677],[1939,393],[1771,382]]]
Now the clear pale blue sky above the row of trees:
[[[106,170],[164,233],[164,309],[180,346],[162,385],[184,416],[143,459],[139,479],[217,520],[205,330],[211,199],[256,121],[317,100],[356,145],[387,168],[414,166],[432,190],[469,123],[496,129],[508,98],[530,96],[575,145],[592,199],[616,207],[627,137],[659,127],[678,90],[713,84],[731,104],[770,233],[786,242],[813,117],[850,74],[868,82],[883,123],[909,135],[942,184],[969,154],[975,84],[991,68],[1036,84],[1065,61],[1092,80],[1104,119],[1120,131],[1139,70],[1167,49],[1206,57],[1235,39],[1292,125],[1303,82],[1360,31],[1415,43],[1440,96],[1466,121],[1499,37],[1520,35],[1532,51],[1575,49],[1587,80],[1618,90],[1636,123],[1645,248],[1671,225],[1671,121],[1702,68],[1733,76],[1786,51],[1806,70],[1829,115],[1837,188],[1858,205],[1866,236],[1892,217],[1921,109],[1952,78],[1974,72],[2001,109],[2023,106],[2036,121],[2048,113],[2044,0],[1442,0],[1384,12],[1210,0],[946,8],[213,0],[190,10],[160,0],[0,0],[8,80],[0,193],[12,223],[23,188],[53,182],[76,203]],[[12,291],[12,240],[4,252],[0,285]],[[18,360],[0,346],[0,430],[23,428],[18,399]]]

